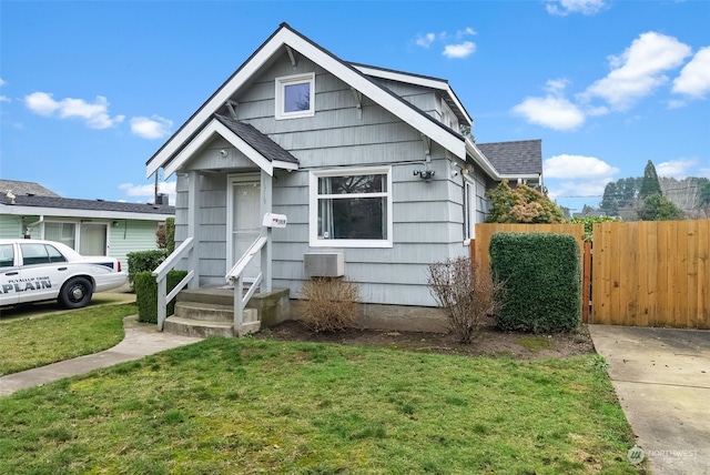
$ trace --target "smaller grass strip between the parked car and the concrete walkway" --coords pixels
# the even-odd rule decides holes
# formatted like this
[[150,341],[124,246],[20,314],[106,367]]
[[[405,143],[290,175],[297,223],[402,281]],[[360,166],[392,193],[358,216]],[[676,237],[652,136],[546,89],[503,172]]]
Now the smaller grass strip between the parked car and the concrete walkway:
[[92,305],[41,319],[0,323],[0,376],[97,353],[123,340],[134,304]]

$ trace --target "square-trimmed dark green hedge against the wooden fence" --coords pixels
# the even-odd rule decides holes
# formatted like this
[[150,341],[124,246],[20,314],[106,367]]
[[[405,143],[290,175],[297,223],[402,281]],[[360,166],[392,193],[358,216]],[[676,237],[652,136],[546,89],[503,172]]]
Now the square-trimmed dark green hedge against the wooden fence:
[[489,252],[493,277],[505,289],[505,303],[496,314],[498,327],[556,333],[579,324],[581,266],[575,238],[496,233]]

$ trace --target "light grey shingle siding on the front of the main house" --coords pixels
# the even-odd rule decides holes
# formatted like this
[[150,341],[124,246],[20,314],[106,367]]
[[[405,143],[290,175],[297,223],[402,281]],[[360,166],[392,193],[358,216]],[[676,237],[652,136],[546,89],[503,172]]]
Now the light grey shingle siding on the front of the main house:
[[[275,78],[315,72],[314,117],[275,120]],[[386,81],[385,81],[386,82]],[[440,118],[440,98],[435,91],[406,84],[387,84],[405,100]],[[306,280],[303,256],[307,252],[341,251],[345,275],[361,285],[364,302],[376,304],[435,306],[426,285],[428,265],[468,255],[464,245],[464,181],[452,176],[450,154],[432,143],[430,182],[414,174],[426,158],[422,137],[390,112],[362,98],[358,110],[351,88],[308,60],[298,57],[291,64],[286,54],[267,68],[233,100],[237,119],[251,123],[300,161],[297,171],[276,170],[273,180],[273,212],[285,214],[285,229],[274,229],[273,286],[291,289],[298,297]],[[221,111],[227,113],[226,110]],[[215,159],[225,148],[229,160]],[[224,283],[226,273],[226,176],[246,171],[244,156],[221,139],[211,141],[183,170],[212,170],[200,178],[200,211],[196,213],[196,246],[200,285]],[[392,166],[392,247],[311,247],[310,173],[334,168]],[[216,171],[216,169],[220,169]],[[485,180],[485,179],[484,179]],[[187,181],[178,175],[175,239],[187,236]],[[481,193],[485,185],[477,186]],[[480,196],[483,200],[483,195]],[[483,206],[480,206],[483,209]],[[183,262],[184,267],[184,262]]]

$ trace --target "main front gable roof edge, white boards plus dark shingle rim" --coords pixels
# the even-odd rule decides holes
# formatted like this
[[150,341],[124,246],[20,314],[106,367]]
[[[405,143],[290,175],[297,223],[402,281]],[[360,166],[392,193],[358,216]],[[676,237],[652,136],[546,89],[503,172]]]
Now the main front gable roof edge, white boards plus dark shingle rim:
[[[202,131],[205,125],[214,119],[214,113],[216,113],[236,91],[247,84],[261,68],[278,54],[284,47],[297,51],[298,54],[324,68],[331,74],[375,101],[424,135],[439,143],[454,155],[466,160],[466,140],[458,132],[437,122],[429,114],[384,88],[354,65],[342,61],[329,51],[293,30],[287,23],[282,23],[230,79],[155,152],[146,162],[146,175],[152,175],[161,166],[165,169],[165,175],[170,175],[176,171],[179,164],[172,163],[170,166],[166,165],[178,155],[182,155],[183,162],[187,160],[186,154],[183,153],[184,149],[190,148],[190,142],[196,140],[197,134],[201,134],[202,140],[207,139],[206,134],[202,133]],[[224,123],[222,123],[222,125],[224,125]],[[191,149],[194,151],[200,146],[202,146],[202,143],[195,144]]]

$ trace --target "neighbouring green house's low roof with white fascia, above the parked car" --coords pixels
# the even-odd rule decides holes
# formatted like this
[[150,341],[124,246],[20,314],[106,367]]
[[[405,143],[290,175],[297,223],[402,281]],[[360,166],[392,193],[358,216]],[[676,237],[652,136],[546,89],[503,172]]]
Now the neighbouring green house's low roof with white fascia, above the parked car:
[[0,193],[0,212],[2,214],[158,221],[174,215],[175,206],[57,196],[29,196],[17,193],[14,204],[11,204],[11,200],[4,193]]

